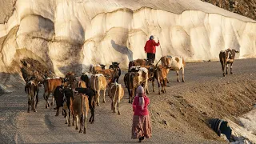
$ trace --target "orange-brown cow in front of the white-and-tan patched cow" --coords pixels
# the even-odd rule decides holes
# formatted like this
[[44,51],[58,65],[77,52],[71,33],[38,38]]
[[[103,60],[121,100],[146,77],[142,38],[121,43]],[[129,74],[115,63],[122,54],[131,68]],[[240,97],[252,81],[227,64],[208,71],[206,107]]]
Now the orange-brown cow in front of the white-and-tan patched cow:
[[[167,85],[167,74],[169,73],[170,68],[166,66],[156,66],[156,70],[154,71],[154,78],[158,82],[158,94],[160,95],[160,84],[162,86],[162,93],[166,93],[166,85]],[[154,79],[152,80],[152,87],[154,92]]]

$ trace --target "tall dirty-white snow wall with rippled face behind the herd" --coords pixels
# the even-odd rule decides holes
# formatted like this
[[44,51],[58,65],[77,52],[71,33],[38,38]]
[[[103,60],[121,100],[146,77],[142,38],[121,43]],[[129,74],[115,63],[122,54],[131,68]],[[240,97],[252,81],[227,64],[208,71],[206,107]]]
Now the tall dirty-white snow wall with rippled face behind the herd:
[[[186,61],[256,57],[256,23],[199,0],[17,0],[0,2],[0,70],[32,57],[58,75],[90,64],[146,58],[151,34],[164,55]],[[162,56],[160,47],[157,59]],[[82,64],[82,65],[81,65]]]

